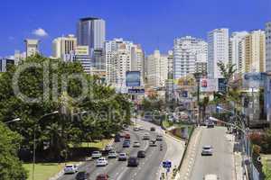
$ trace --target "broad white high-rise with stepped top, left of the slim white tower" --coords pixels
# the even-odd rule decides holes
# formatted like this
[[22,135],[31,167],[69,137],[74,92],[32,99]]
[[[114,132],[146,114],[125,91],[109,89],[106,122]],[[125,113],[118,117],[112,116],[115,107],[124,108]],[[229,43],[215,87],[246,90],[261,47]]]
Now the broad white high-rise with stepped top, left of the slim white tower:
[[[174,40],[173,47],[173,77],[175,79],[206,71],[208,44],[204,40],[186,36]],[[204,66],[205,64],[205,66]]]

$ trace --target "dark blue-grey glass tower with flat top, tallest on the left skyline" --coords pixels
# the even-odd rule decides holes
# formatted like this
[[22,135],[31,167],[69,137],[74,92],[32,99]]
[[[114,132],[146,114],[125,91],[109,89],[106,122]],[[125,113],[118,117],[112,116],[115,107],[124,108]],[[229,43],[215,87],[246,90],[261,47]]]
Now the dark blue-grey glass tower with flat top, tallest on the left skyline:
[[106,22],[96,17],[79,19],[77,38],[80,46],[89,46],[90,56],[95,49],[103,49],[106,40]]

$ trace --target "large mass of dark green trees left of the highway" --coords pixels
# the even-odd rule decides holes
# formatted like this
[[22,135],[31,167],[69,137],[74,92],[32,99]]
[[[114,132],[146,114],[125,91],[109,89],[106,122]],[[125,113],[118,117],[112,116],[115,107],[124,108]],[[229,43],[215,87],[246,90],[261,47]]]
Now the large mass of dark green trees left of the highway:
[[[19,67],[33,63],[41,67],[26,68],[18,81],[24,95],[40,98],[30,103],[14,94],[13,77]],[[84,98],[75,101],[84,93]],[[9,128],[23,136],[22,147],[33,149],[35,130],[37,150],[49,150],[46,158],[50,159],[66,156],[70,144],[109,137],[130,121],[130,103],[125,96],[84,74],[79,63],[60,59],[36,56],[11,67],[0,76],[0,99],[0,121],[21,118]]]

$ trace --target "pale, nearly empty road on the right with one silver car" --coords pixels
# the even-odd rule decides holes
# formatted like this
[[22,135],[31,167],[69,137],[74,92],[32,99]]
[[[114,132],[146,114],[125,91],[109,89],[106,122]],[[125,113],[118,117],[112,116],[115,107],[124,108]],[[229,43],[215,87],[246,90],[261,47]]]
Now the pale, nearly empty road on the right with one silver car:
[[[213,147],[212,156],[201,156],[201,149],[205,145]],[[218,175],[220,180],[234,179],[233,143],[226,134],[226,128],[203,128],[200,147],[195,164],[192,168],[192,180],[199,180],[207,174]]]

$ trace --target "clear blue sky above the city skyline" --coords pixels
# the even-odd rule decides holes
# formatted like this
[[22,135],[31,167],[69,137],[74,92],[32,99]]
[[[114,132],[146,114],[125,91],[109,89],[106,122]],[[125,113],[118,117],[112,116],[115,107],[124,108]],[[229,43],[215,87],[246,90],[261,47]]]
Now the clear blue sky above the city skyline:
[[[215,28],[250,31],[271,21],[271,0],[5,0],[0,7],[0,57],[23,50],[25,38],[39,38],[42,53],[51,55],[51,40],[75,33],[85,16],[106,20],[107,40],[133,40],[147,53],[172,49],[175,37],[206,39]],[[33,35],[38,29],[47,36]]]

